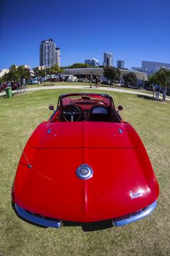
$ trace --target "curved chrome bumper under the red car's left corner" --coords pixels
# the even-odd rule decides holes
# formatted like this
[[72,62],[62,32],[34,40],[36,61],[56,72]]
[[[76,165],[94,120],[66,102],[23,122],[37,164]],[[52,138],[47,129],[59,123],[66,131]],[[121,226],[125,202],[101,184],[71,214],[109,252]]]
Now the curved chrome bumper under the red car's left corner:
[[34,222],[36,224],[39,224],[45,227],[59,228],[63,223],[61,219],[58,219],[58,220],[43,219],[43,217],[39,217],[37,215],[31,214],[28,211],[24,210],[23,208],[20,208],[20,206],[18,206],[16,203],[15,203],[15,210],[21,217],[23,217],[23,219],[26,219],[29,222]]

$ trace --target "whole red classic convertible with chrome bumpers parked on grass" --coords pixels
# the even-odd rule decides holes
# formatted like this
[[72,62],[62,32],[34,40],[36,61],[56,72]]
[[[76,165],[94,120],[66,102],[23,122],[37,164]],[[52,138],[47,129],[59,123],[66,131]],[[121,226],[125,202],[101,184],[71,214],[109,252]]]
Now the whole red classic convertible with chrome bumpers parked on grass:
[[12,203],[28,222],[111,219],[121,226],[157,205],[159,187],[142,140],[108,94],[62,94],[20,157]]

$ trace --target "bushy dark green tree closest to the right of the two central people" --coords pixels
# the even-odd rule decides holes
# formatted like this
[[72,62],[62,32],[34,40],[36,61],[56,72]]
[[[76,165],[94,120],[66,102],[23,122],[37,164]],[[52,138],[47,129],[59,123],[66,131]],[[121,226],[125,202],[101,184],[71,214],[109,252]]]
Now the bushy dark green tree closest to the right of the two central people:
[[104,67],[104,76],[107,80],[110,80],[110,86],[116,83],[116,80],[120,80],[120,69],[116,67]]

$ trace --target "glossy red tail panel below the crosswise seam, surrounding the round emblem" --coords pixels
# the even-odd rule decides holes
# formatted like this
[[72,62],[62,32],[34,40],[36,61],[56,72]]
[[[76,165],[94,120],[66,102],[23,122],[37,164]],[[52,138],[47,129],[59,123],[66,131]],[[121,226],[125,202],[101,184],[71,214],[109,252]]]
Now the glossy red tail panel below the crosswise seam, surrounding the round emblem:
[[[134,149],[28,146],[26,155],[32,168],[22,156],[15,180],[15,203],[28,211],[90,222],[123,216],[156,200],[152,167],[142,144]],[[83,163],[93,169],[88,180],[76,175]],[[132,199],[131,192],[142,194]]]

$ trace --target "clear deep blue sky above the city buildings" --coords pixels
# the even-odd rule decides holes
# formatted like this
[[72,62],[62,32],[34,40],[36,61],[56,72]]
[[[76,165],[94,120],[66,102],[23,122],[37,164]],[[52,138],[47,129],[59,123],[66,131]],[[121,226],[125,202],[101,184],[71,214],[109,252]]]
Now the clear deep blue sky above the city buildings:
[[0,0],[0,69],[39,65],[39,44],[52,38],[61,65],[96,58],[104,51],[125,61],[170,63],[169,0]]

